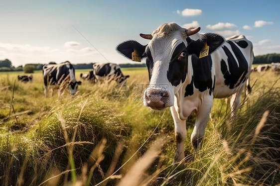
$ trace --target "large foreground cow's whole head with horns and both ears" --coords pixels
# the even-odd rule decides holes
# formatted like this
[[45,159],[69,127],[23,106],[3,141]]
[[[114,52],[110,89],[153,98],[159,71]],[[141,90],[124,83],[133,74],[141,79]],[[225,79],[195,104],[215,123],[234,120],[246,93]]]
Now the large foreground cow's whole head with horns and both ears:
[[188,56],[199,56],[205,43],[209,53],[217,49],[224,39],[216,34],[204,34],[194,41],[188,36],[196,34],[200,27],[185,29],[176,23],[160,25],[152,34],[140,34],[150,42],[143,46],[137,41],[126,41],[117,50],[132,59],[132,53],[146,58],[149,87],[144,92],[144,105],[160,110],[172,106],[174,94],[185,81],[188,72]]

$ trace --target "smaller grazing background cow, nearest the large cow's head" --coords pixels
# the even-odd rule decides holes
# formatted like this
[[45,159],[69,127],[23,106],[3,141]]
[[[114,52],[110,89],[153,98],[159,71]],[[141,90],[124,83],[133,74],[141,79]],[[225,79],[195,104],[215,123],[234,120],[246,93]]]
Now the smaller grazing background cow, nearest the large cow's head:
[[115,80],[118,84],[126,84],[130,76],[124,76],[121,67],[114,63],[93,64],[93,75],[97,82]]

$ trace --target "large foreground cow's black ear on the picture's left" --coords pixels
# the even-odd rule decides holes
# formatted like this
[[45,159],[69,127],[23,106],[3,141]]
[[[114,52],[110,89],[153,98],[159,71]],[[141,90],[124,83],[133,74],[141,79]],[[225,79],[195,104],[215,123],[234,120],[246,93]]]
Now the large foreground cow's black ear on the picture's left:
[[127,58],[132,59],[132,53],[134,51],[136,51],[139,56],[142,56],[145,52],[145,48],[146,46],[141,45],[139,42],[129,40],[119,44],[116,50]]

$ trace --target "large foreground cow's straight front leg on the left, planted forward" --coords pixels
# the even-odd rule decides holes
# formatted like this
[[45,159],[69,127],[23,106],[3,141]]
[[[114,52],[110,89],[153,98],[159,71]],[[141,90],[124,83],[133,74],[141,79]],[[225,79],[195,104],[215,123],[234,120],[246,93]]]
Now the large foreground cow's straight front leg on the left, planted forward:
[[185,158],[184,142],[187,135],[187,129],[186,129],[186,120],[181,120],[178,118],[178,114],[174,106],[171,106],[170,110],[174,120],[175,137],[176,137],[176,151],[173,160],[173,164],[174,164],[180,162],[182,159]]

